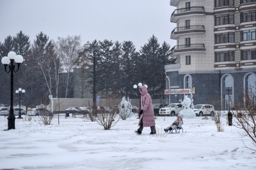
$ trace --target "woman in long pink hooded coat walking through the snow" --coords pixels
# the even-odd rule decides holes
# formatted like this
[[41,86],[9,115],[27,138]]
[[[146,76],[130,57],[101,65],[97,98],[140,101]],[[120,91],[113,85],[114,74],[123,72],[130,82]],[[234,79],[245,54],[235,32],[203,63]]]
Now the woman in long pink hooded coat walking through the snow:
[[147,87],[141,85],[139,88],[141,94],[142,109],[140,111],[139,129],[135,131],[137,134],[141,134],[143,127],[150,127],[150,134],[156,134],[156,123],[154,117],[154,108],[152,104],[151,96],[148,94]]

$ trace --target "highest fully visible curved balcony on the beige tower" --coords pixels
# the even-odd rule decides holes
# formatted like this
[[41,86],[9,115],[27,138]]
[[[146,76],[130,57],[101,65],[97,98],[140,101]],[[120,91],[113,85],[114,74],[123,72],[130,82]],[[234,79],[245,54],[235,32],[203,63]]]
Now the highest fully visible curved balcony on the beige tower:
[[171,22],[177,22],[180,17],[184,17],[186,15],[205,15],[204,6],[193,6],[190,8],[180,8],[174,10],[171,16]]

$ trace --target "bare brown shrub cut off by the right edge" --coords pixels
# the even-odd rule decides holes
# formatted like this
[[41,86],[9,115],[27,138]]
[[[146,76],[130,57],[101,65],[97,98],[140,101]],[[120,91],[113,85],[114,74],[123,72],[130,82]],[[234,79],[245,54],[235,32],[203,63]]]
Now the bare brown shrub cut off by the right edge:
[[232,115],[236,118],[237,123],[234,126],[243,129],[244,134],[240,134],[242,140],[245,137],[250,138],[254,148],[247,146],[245,143],[244,146],[256,151],[256,106],[255,102],[248,95],[244,96],[241,97],[239,103],[235,104],[234,111],[232,111]]

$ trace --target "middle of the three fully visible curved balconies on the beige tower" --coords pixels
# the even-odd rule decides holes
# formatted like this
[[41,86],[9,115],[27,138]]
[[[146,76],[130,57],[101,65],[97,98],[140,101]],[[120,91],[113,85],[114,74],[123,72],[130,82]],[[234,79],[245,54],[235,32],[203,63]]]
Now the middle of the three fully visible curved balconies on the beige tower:
[[185,27],[177,27],[171,33],[171,39],[177,39],[180,34],[197,34],[205,33],[204,25],[189,25]]

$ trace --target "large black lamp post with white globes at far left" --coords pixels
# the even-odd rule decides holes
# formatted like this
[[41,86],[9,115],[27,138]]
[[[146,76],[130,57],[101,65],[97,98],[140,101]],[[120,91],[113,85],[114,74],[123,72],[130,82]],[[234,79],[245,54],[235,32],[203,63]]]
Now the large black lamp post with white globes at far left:
[[[15,52],[9,52],[8,57],[3,57],[1,59],[2,64],[4,64],[4,70],[6,73],[11,73],[11,90],[10,90],[10,96],[11,96],[11,103],[10,103],[10,111],[8,115],[8,129],[15,129],[15,116],[13,113],[13,72],[17,72],[19,70],[20,64],[23,62],[23,57],[21,55],[16,55]],[[15,69],[15,64],[17,63],[17,69]],[[9,66],[9,69],[7,70],[7,66]]]

